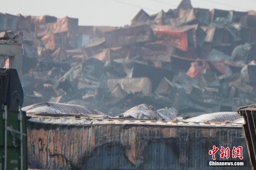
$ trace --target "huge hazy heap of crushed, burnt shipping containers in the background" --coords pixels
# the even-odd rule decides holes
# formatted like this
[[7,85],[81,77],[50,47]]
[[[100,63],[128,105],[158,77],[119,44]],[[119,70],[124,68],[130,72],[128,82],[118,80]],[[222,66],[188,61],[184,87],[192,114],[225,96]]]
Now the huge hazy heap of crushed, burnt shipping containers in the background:
[[197,116],[256,103],[255,12],[183,0],[167,12],[140,10],[121,28],[0,15],[0,29],[23,30],[24,106],[62,102],[117,116],[146,104]]

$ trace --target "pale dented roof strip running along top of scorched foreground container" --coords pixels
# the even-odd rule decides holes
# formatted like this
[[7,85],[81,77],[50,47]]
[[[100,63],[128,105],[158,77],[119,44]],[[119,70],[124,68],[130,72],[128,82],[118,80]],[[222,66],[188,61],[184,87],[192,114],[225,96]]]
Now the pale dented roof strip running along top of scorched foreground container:
[[[198,126],[198,127],[242,127],[241,123],[224,123],[224,122],[192,122],[192,121],[159,121],[159,120],[143,120],[143,119],[122,119],[109,118],[107,115],[80,115],[76,118],[74,115],[36,115],[27,113],[31,116],[28,121],[38,123],[54,123],[69,125],[152,125],[152,126]],[[107,117],[106,117],[107,116]]]

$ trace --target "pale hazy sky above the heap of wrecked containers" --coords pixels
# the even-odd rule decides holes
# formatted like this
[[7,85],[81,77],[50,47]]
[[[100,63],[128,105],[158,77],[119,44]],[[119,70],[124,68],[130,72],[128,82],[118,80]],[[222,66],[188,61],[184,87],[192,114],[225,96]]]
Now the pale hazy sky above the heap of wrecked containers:
[[[191,0],[198,8],[256,10],[256,0]],[[180,0],[2,0],[0,12],[23,15],[51,15],[79,18],[79,25],[130,24],[143,8],[148,14],[176,8]]]

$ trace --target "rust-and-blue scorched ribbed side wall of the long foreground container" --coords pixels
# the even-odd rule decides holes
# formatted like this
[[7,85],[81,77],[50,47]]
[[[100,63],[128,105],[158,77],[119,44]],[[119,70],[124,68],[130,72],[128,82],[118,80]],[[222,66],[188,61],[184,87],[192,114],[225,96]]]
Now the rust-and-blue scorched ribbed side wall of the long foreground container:
[[[246,147],[242,127],[28,122],[27,134],[29,166],[39,169],[207,170],[213,145]],[[250,169],[243,156],[246,166],[218,169]]]

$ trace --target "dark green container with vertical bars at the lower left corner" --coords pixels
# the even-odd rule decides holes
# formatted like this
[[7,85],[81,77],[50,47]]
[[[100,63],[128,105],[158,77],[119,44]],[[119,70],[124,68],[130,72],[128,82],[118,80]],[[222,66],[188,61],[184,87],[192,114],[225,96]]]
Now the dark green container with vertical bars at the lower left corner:
[[[0,110],[0,170],[27,170],[26,112],[6,111],[6,113]],[[7,115],[6,120],[5,115]]]

